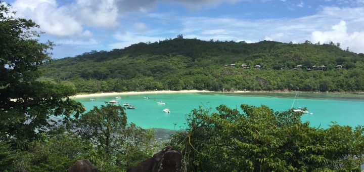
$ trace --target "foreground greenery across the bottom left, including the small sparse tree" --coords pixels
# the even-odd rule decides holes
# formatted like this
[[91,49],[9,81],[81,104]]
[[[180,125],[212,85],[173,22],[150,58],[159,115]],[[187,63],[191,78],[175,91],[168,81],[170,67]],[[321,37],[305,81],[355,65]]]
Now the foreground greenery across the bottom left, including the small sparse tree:
[[26,151],[0,142],[0,171],[67,171],[80,159],[99,171],[125,171],[162,147],[154,143],[153,130],[127,124],[120,106],[95,107],[73,124],[76,130],[67,134],[41,134]]

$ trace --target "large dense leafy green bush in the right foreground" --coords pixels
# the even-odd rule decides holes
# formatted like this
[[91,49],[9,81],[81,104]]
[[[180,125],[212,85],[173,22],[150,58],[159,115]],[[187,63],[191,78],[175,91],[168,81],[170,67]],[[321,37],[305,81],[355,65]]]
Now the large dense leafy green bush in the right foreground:
[[362,126],[313,128],[293,109],[216,109],[193,110],[186,131],[172,136],[192,171],[360,171],[364,163]]

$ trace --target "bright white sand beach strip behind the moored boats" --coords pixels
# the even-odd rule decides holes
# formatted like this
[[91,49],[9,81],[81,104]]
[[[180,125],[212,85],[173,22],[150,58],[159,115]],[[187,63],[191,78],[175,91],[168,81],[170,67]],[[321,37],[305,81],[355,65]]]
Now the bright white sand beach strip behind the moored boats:
[[76,95],[71,98],[83,98],[83,97],[100,97],[100,96],[122,96],[122,95],[143,95],[143,94],[168,94],[168,93],[207,93],[213,91],[206,90],[181,90],[181,91],[170,91],[170,90],[162,90],[162,91],[149,91],[149,92],[113,92],[113,93],[93,93],[86,95]]

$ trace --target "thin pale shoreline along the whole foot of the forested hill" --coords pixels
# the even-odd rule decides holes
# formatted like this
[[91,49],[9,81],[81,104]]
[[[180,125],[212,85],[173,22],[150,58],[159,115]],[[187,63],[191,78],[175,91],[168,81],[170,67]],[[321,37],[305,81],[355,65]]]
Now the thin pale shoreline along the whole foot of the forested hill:
[[[90,94],[78,94],[75,96],[71,96],[70,98],[87,98],[87,97],[103,97],[103,96],[122,96],[122,95],[149,95],[149,94],[172,94],[172,93],[226,93],[226,94],[234,94],[234,93],[296,93],[296,91],[287,91],[287,90],[275,90],[275,91],[235,91],[235,92],[215,92],[208,90],[180,90],[180,91],[170,91],[170,90],[162,90],[162,91],[144,91],[144,92],[112,92],[112,93],[90,93]],[[300,91],[300,93],[316,93],[316,94],[355,94],[362,95],[363,93],[341,93],[341,92],[305,92]]]

